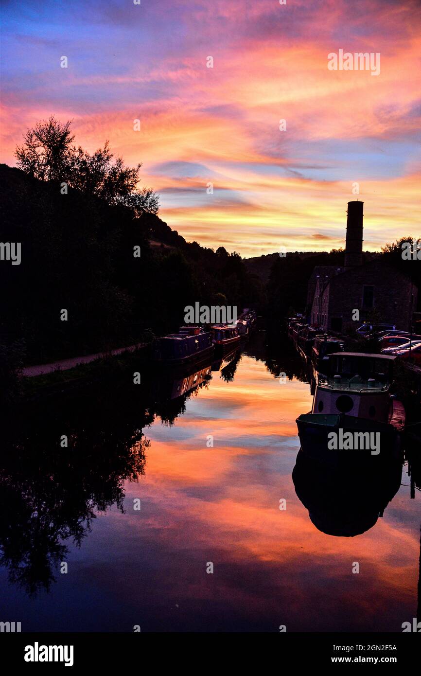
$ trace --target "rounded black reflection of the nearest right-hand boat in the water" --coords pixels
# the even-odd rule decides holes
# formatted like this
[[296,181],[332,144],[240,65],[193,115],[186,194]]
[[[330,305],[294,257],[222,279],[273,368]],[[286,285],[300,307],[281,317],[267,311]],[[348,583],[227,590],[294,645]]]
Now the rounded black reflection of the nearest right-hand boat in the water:
[[320,462],[300,449],[293,469],[295,493],[316,528],[353,537],[374,526],[401,485],[402,462],[391,456],[380,467],[361,470],[353,458]]

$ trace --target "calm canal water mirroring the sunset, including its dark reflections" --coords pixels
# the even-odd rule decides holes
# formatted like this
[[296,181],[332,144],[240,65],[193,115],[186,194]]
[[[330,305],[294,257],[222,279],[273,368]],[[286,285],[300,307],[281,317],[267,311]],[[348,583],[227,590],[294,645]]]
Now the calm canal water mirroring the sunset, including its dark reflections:
[[[350,482],[305,462],[296,492],[295,418],[312,395],[289,345],[268,350],[259,333],[225,367],[143,383],[30,404],[3,425],[1,621],[399,632],[416,617],[420,493],[410,499],[406,466]],[[322,530],[368,530],[322,532],[297,493]]]

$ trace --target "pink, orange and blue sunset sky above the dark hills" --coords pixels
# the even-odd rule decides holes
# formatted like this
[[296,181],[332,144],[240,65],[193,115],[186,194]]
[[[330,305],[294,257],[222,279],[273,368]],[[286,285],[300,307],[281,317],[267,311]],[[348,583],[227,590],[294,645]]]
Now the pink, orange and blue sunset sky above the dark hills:
[[[73,119],[89,151],[143,162],[170,227],[243,256],[343,245],[356,182],[380,249],[421,235],[420,48],[419,0],[5,1],[1,162]],[[339,49],[380,74],[328,70]]]

